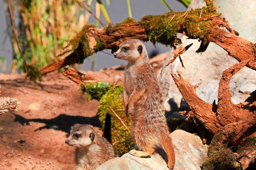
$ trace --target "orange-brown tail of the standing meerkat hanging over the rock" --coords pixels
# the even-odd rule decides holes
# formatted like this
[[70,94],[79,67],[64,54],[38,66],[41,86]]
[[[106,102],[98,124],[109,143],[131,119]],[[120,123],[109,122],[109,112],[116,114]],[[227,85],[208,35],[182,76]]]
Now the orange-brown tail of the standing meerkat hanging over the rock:
[[175,164],[175,154],[174,154],[174,148],[172,145],[172,139],[170,136],[166,137],[162,140],[162,147],[167,155],[167,167],[172,170],[174,168]]

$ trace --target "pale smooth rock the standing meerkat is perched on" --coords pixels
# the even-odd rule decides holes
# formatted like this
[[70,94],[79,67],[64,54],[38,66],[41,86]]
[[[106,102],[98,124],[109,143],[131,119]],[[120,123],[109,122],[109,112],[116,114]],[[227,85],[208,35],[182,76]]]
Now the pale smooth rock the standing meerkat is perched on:
[[[207,145],[201,139],[183,130],[171,133],[175,150],[174,170],[200,170],[205,162]],[[120,158],[108,160],[97,170],[168,170],[167,164],[159,154],[152,154],[150,158],[139,158],[128,153]]]

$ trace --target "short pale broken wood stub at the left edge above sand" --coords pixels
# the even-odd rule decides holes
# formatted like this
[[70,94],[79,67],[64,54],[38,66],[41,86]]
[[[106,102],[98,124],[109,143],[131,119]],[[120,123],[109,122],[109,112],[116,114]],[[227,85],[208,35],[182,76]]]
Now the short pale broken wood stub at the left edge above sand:
[[9,97],[0,98],[0,115],[8,111],[18,111],[20,102],[17,99],[12,99]]

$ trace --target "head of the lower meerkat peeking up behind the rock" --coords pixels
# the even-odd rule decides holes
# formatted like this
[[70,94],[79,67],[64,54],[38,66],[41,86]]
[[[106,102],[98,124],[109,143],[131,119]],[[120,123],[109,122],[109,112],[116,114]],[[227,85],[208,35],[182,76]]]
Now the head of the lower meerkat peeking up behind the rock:
[[87,125],[76,125],[70,130],[65,143],[75,147],[86,147],[94,141],[95,134],[95,131]]

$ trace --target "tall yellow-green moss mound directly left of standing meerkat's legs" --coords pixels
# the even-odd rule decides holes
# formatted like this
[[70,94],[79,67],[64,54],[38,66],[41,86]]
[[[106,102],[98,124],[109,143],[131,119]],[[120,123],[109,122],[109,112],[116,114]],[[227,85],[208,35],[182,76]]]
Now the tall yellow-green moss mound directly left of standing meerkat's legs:
[[129,131],[124,127],[121,121],[111,111],[110,107],[116,112],[116,114],[122,119],[127,127],[131,125],[131,118],[127,118],[124,113],[124,106],[122,98],[120,97],[123,91],[122,86],[117,86],[113,91],[109,90],[100,99],[100,105],[98,107],[98,115],[104,131],[105,117],[109,113],[111,115],[111,136],[114,149],[119,156],[127,153],[131,149],[133,141],[130,137]]

